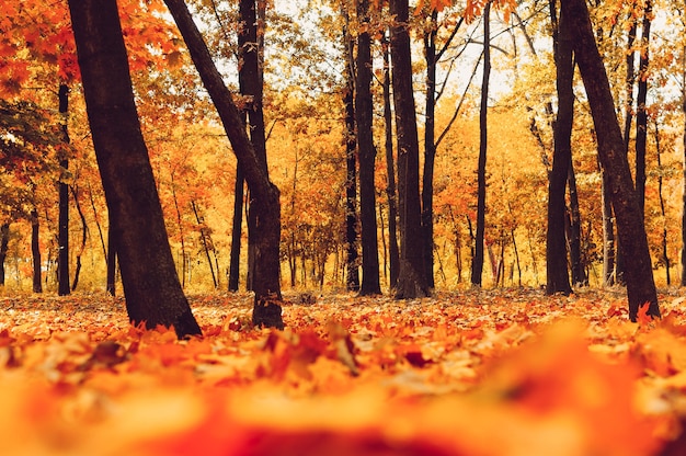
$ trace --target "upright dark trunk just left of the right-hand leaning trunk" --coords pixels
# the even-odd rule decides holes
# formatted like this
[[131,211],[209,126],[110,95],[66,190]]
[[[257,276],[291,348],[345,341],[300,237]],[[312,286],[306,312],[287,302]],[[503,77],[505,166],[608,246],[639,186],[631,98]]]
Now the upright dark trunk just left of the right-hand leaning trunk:
[[[554,1],[550,8],[556,8]],[[567,267],[564,240],[564,190],[572,163],[572,124],[574,122],[574,93],[572,90],[574,59],[571,30],[565,13],[560,12],[553,30],[553,50],[557,71],[558,115],[553,129],[552,170],[548,175],[548,229],[546,235],[546,294],[572,292]]]

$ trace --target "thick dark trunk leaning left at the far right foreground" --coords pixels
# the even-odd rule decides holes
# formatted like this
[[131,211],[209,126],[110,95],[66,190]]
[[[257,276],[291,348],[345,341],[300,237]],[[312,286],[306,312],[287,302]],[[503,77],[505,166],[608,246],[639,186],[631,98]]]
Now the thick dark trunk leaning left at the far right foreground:
[[631,180],[609,81],[593,36],[588,9],[583,0],[562,0],[562,11],[574,31],[574,54],[591,105],[598,157],[603,169],[607,171],[609,193],[617,217],[617,233],[626,255],[631,259],[625,269],[629,318],[636,321],[639,306],[647,303],[648,315],[659,318],[658,293],[643,217]]

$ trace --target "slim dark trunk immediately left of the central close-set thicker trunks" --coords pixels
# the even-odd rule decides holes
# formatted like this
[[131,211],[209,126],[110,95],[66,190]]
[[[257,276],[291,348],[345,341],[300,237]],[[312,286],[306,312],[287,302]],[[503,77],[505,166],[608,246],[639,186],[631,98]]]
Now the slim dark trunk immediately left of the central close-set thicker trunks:
[[359,292],[359,258],[357,253],[357,139],[355,138],[355,41],[348,31],[347,11],[343,9],[345,26],[343,45],[345,49],[345,286],[351,292]]

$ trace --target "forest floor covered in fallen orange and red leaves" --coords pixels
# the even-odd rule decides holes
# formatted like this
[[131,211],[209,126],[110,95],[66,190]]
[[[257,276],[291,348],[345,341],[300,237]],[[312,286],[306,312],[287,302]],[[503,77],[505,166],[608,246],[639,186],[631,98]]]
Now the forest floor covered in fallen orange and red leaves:
[[624,292],[191,298],[203,338],[103,295],[0,298],[4,455],[686,454],[686,298]]

